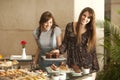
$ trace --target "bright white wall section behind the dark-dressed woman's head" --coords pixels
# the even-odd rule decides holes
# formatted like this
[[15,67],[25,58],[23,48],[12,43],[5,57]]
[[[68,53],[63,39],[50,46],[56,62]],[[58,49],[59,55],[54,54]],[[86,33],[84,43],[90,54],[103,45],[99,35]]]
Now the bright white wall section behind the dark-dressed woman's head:
[[85,7],[91,7],[96,14],[96,20],[104,20],[104,0],[74,0],[74,21],[78,19],[81,10]]

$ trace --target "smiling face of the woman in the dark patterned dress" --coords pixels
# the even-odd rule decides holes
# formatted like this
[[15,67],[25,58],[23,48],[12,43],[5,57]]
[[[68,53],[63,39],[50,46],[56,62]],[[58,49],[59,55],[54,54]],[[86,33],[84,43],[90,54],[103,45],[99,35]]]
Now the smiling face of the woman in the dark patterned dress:
[[88,11],[84,12],[81,17],[81,24],[86,25],[90,22],[90,13]]

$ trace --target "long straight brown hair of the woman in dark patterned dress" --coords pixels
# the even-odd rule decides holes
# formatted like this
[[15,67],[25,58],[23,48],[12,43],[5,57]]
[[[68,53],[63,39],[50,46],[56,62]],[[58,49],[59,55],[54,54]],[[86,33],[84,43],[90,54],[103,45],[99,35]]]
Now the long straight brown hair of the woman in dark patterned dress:
[[96,45],[96,25],[95,25],[95,12],[92,8],[86,7],[84,8],[78,18],[78,22],[76,25],[76,33],[77,33],[77,44],[81,44],[81,17],[84,12],[88,11],[90,14],[90,22],[86,24],[85,28],[87,30],[88,35],[88,52],[90,52]]

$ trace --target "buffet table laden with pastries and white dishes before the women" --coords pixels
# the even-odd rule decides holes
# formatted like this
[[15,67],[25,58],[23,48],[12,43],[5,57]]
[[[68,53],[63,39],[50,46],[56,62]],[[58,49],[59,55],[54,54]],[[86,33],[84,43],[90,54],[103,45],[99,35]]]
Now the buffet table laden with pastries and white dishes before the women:
[[[45,56],[43,56],[44,60],[58,60],[58,61],[66,61],[66,58],[57,58],[57,59],[46,59]],[[2,59],[3,61],[5,59]],[[67,70],[52,70],[50,66],[46,67],[46,71],[41,71],[40,68],[38,67],[37,69],[32,69],[32,61],[33,61],[33,56],[32,55],[27,55],[26,59],[22,59],[21,55],[11,55],[10,58],[6,59],[7,61],[14,61],[17,60],[18,63],[12,66],[8,66],[7,70],[6,68],[1,68],[0,69],[0,80],[12,80],[12,79],[7,79],[10,78],[11,76],[14,76],[12,78],[16,78],[16,80],[31,80],[34,78],[34,80],[93,80],[92,79],[92,73],[88,74],[83,74],[82,72],[80,73],[75,73],[73,69],[68,68]],[[13,67],[13,66],[20,66],[20,67]],[[27,69],[29,68],[29,69]],[[4,70],[5,69],[5,70]],[[7,72],[4,72],[7,71]],[[18,71],[18,73],[16,73]],[[3,73],[2,73],[3,72]],[[14,73],[15,74],[12,74]],[[4,74],[5,73],[5,74]],[[6,74],[10,73],[10,74]],[[2,75],[2,76],[1,76]],[[3,76],[7,75],[7,76]],[[18,78],[18,75],[21,75],[22,77]],[[59,79],[54,79],[54,76],[59,77]],[[6,79],[3,79],[3,78]],[[40,79],[40,77],[44,77],[44,79]],[[29,79],[31,78],[31,79]]]

